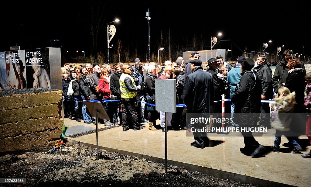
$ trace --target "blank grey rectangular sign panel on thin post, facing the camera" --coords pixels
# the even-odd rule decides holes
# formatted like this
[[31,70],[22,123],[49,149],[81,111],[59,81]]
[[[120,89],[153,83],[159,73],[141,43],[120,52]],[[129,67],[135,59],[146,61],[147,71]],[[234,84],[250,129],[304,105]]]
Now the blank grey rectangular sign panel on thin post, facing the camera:
[[176,112],[175,79],[156,79],[156,110]]

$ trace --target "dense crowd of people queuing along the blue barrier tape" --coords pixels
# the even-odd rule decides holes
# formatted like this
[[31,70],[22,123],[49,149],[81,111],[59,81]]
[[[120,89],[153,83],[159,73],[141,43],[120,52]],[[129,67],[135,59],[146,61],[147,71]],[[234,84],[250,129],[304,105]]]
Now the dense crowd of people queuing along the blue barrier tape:
[[[308,115],[311,110],[311,74],[306,75],[304,64],[295,58],[291,50],[283,53],[273,75],[264,55],[258,56],[256,62],[240,57],[234,66],[226,63],[220,55],[210,58],[204,65],[199,58],[200,54],[194,51],[185,62],[183,57],[178,57],[175,62],[165,61],[163,66],[154,62],[143,64],[138,58],[133,66],[118,63],[113,66],[102,64],[100,67],[98,63],[86,63],[85,67],[70,67],[64,64],[65,117],[95,124],[94,116],[91,116],[83,101],[99,101],[109,116],[109,119],[100,121],[106,126],[122,126],[123,131],[128,131],[140,130],[141,123],[148,123],[149,130],[160,129],[165,132],[165,112],[155,109],[155,82],[157,78],[176,79],[176,103],[185,104],[186,107],[178,107],[176,113],[167,113],[168,130],[189,130],[186,113],[199,113],[206,117],[210,113],[221,114],[220,103],[214,102],[220,101],[221,95],[231,99],[231,102],[225,102],[225,112],[233,118],[233,122],[227,125],[257,127],[259,121],[259,127],[271,129],[274,126],[270,119],[269,103],[261,100],[271,100],[275,96],[274,91],[278,94],[275,100],[280,113],[302,113],[304,116],[297,118],[290,115],[289,118],[286,115],[286,120],[282,120],[279,115],[284,124],[281,124],[282,128],[276,128],[271,151],[279,152],[282,135],[289,140],[287,144],[292,146],[291,153],[302,150],[299,135],[306,133],[311,143],[311,115]],[[156,125],[157,119],[161,121],[160,126]],[[296,119],[300,120],[300,126]],[[213,125],[221,127],[221,123]],[[202,124],[195,124],[194,127],[201,128]],[[287,133],[288,130],[294,130],[295,136]],[[252,133],[241,133],[245,147],[240,151],[252,157],[262,156],[266,150]],[[211,146],[206,132],[193,134],[195,141],[191,146]],[[310,158],[311,152],[302,157]]]

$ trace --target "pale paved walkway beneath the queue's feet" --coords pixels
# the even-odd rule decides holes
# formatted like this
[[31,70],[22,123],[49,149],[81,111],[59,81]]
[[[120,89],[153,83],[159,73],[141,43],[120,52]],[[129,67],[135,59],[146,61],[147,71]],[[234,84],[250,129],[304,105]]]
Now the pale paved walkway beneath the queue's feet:
[[[160,120],[157,121],[160,124]],[[94,124],[84,124],[65,118],[66,135],[95,129]],[[145,126],[146,125],[146,126]],[[151,161],[164,162],[165,137],[162,131],[148,130],[148,125],[139,131],[132,129],[123,132],[123,128],[110,128],[100,131],[99,147],[109,151],[148,158]],[[99,124],[99,129],[104,128]],[[271,146],[274,142],[274,129],[261,137],[255,137],[263,146]],[[68,134],[67,134],[68,133]],[[218,178],[237,180],[242,183],[253,183],[259,186],[310,186],[311,159],[302,158],[301,153],[310,151],[310,146],[301,153],[291,154],[289,148],[281,146],[281,152],[268,152],[264,157],[252,158],[243,155],[239,148],[244,147],[243,137],[233,133],[223,137],[209,133],[208,137],[219,143],[214,147],[198,149],[190,146],[193,137],[186,136],[188,131],[168,131],[168,164],[185,166],[188,170],[202,171]],[[235,132],[234,132],[235,133]],[[236,133],[239,135],[240,133]],[[189,134],[188,134],[189,135]],[[306,136],[299,137],[307,142]],[[65,137],[67,141],[81,142],[96,146],[96,133],[76,138]],[[287,142],[282,137],[281,144]]]

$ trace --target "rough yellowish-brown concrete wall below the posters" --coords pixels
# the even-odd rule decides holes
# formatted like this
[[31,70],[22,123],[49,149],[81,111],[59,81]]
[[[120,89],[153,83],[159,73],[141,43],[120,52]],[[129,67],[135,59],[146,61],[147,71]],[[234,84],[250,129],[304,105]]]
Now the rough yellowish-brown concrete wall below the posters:
[[63,132],[62,91],[0,91],[0,153],[47,152]]

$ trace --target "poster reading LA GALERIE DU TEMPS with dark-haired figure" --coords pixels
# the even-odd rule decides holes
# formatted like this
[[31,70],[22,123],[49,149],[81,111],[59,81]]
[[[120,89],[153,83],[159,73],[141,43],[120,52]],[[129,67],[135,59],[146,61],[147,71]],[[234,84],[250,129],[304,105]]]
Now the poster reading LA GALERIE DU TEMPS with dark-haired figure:
[[27,88],[25,50],[6,51],[5,66],[7,89],[11,90]]

